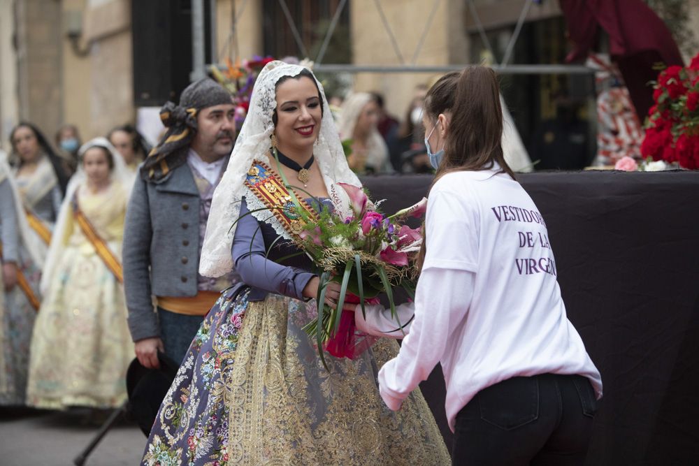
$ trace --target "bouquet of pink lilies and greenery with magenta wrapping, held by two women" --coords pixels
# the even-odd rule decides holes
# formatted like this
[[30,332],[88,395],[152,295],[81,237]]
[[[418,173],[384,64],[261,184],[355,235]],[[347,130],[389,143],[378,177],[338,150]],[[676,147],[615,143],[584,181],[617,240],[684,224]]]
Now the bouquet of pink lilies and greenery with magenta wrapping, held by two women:
[[[422,217],[427,207],[427,199],[423,198],[412,207],[386,216],[361,188],[343,183],[340,186],[352,205],[349,217],[322,209],[317,218],[310,218],[308,210],[296,209],[305,224],[298,235],[298,246],[317,266],[320,277],[318,315],[304,330],[315,337],[324,364],[324,349],[333,356],[352,358],[370,346],[371,340],[363,339],[364,344],[357,340],[354,314],[343,312],[345,301],[359,304],[365,312],[364,303],[377,303],[377,296],[386,293],[391,315],[396,317],[396,330],[407,323],[398,320],[393,290],[403,288],[408,296],[415,296],[415,259],[422,233],[401,222],[407,217]],[[334,309],[324,305],[329,282],[340,284]]]

